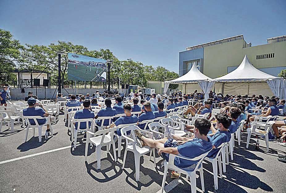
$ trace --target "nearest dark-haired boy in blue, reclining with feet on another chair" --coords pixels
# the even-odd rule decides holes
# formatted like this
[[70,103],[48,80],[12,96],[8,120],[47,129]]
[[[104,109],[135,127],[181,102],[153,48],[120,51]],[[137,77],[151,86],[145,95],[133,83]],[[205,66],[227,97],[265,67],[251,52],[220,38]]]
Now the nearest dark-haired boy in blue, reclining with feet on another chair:
[[[181,141],[173,141],[173,139],[150,139],[142,135],[139,129],[135,129],[135,135],[137,136],[137,144],[141,147],[149,146],[156,148],[158,154],[161,155],[166,161],[169,161],[170,154],[182,155],[188,158],[195,158],[203,153],[206,153],[212,149],[212,139],[207,136],[211,124],[208,120],[198,118],[195,121],[195,136],[194,139],[183,138]],[[197,161],[190,161],[175,157],[174,164],[179,168],[187,168]]]

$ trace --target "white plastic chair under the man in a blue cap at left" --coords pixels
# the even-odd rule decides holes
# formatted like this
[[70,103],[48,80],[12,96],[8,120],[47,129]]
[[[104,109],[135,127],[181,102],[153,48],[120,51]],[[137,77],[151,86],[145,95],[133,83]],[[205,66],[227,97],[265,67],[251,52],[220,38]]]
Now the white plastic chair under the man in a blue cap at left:
[[[49,124],[50,125],[50,130],[51,130],[51,134],[53,135],[53,129],[52,129],[52,125],[50,123],[50,116],[48,117],[41,117],[41,116],[23,116],[24,119],[27,119],[28,125],[26,127],[26,137],[25,137],[25,142],[27,141],[27,137],[28,137],[28,131],[29,128],[33,129],[33,137],[35,136],[35,129],[38,128],[38,134],[39,134],[39,142],[42,141],[42,127]],[[33,119],[34,122],[36,123],[36,125],[31,125],[29,119]],[[37,119],[47,119],[46,123],[44,123],[43,125],[39,125]]]

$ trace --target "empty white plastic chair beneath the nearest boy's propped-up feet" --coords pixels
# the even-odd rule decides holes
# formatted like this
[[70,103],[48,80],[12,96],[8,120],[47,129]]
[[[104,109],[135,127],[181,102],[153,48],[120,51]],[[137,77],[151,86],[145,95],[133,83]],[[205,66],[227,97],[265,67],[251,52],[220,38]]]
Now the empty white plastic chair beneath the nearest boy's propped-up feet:
[[[121,136],[127,140],[126,141],[127,145],[126,145],[125,152],[124,152],[122,169],[124,169],[127,151],[133,152],[134,153],[134,160],[135,160],[136,181],[139,181],[140,157],[151,152],[151,151],[153,151],[153,155],[155,155],[155,148],[150,148],[149,146],[144,146],[142,148],[139,147],[139,145],[137,145],[137,140],[136,140],[136,135],[134,133],[134,129],[139,129],[142,133],[149,134],[149,135],[152,135],[152,133],[149,131],[142,130],[138,126],[135,126],[135,125],[123,127],[121,129]],[[126,134],[127,131],[131,131],[130,137],[127,136],[127,134]],[[154,156],[154,166],[156,168],[155,156]]]

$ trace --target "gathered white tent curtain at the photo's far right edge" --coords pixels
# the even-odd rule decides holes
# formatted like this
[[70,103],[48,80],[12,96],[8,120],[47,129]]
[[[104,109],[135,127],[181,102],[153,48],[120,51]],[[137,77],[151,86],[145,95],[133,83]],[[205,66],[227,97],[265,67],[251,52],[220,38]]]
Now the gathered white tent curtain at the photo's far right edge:
[[286,81],[283,78],[266,80],[266,81],[275,96],[279,97],[280,99],[285,99]]

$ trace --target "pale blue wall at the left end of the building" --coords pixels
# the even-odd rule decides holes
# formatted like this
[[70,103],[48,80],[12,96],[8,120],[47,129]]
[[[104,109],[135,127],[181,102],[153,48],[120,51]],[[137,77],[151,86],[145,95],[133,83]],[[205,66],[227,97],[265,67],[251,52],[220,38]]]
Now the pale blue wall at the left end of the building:
[[198,48],[198,49],[179,52],[179,76],[182,76],[187,73],[187,70],[185,69],[186,66],[184,66],[184,63],[186,63],[189,60],[198,59],[198,58],[202,58],[202,59],[204,58],[204,48]]

